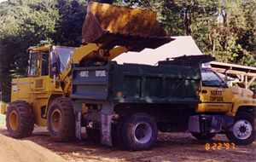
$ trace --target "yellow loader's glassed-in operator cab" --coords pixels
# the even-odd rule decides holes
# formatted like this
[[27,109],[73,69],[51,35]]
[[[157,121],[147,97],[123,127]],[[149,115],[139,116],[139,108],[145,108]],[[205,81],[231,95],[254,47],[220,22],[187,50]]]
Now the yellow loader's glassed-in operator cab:
[[74,50],[75,48],[61,46],[32,49],[29,56],[28,76],[58,77],[67,66]]

